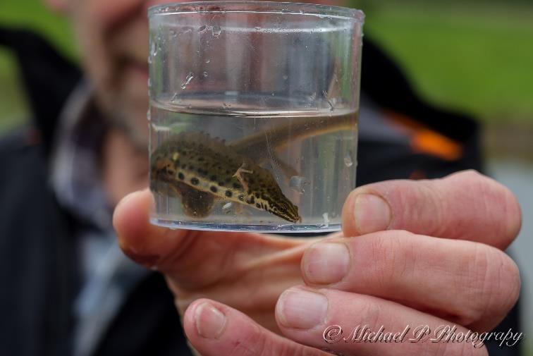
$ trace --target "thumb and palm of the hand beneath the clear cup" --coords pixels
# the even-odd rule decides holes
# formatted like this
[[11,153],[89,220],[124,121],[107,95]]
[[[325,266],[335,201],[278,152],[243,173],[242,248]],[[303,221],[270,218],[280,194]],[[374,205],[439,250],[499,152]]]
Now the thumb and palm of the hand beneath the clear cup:
[[170,230],[148,222],[152,202],[144,190],[116,207],[118,242],[135,262],[166,276],[180,314],[192,301],[209,297],[279,333],[276,301],[283,290],[303,283],[303,252],[319,239]]

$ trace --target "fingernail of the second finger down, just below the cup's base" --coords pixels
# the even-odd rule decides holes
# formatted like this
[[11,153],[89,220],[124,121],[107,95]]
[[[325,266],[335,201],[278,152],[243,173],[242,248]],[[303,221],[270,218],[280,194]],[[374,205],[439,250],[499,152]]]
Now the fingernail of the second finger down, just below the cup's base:
[[303,257],[305,278],[311,283],[331,284],[348,273],[350,252],[343,243],[312,245]]

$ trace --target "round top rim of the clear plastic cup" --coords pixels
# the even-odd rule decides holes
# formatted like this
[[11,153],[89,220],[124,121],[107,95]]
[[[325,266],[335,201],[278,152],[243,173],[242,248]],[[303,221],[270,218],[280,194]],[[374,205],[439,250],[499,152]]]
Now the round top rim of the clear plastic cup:
[[356,8],[276,1],[191,1],[150,6],[148,17],[183,13],[288,13],[319,16],[364,23],[364,13]]

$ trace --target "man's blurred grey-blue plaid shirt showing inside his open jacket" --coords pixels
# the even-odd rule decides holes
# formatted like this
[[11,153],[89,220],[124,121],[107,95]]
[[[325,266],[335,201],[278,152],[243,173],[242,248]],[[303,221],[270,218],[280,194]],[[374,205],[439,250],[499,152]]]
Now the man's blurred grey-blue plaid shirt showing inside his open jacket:
[[82,82],[61,113],[51,159],[51,185],[59,204],[84,227],[76,231],[80,254],[80,290],[73,305],[74,355],[92,355],[128,293],[147,270],[125,257],[116,244],[112,207],[100,169],[106,133],[92,90]]

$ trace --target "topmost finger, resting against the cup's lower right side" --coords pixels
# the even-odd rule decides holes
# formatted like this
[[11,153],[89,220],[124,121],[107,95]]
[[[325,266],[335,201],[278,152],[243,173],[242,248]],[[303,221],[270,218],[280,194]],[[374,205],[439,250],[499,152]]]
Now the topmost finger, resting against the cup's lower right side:
[[408,230],[470,240],[503,250],[520,231],[521,212],[508,188],[475,171],[434,180],[389,180],[354,190],[343,209],[346,236]]

